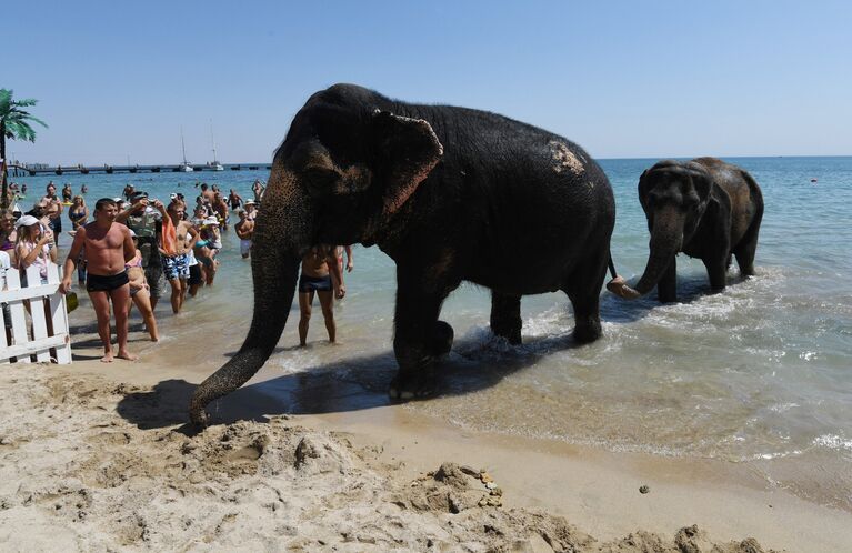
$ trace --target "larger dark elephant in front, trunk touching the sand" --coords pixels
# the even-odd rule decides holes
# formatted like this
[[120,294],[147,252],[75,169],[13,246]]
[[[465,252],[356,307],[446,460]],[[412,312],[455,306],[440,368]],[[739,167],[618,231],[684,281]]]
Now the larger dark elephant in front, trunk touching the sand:
[[564,291],[574,339],[601,334],[599,295],[615,219],[598,164],[562,137],[472,109],[335,84],[314,93],[275,151],[252,247],[254,313],[239,352],[196,390],[204,406],[248,381],[287,322],[312,244],[378,244],[397,263],[392,398],[432,392],[450,351],[441,304],[463,281],[491,289],[491,328],[521,341],[521,295]]

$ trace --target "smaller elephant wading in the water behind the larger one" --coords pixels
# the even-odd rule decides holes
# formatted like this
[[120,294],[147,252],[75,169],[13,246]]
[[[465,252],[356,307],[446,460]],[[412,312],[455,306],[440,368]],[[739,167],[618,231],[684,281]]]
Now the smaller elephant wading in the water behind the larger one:
[[675,301],[679,252],[704,262],[714,291],[725,288],[731,255],[740,274],[754,274],[763,195],[745,170],[715,158],[660,161],[640,177],[639,201],[651,231],[648,265],[635,288],[612,292],[632,300],[656,286],[661,302]]

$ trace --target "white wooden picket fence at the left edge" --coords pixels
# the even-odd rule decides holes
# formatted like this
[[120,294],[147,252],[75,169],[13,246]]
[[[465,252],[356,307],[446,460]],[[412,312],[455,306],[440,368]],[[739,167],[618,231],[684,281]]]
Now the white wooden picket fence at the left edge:
[[[7,289],[0,290],[0,303],[9,304],[11,315],[11,343],[6,335],[4,314],[0,311],[0,363],[17,358],[19,363],[29,363],[30,355],[37,362],[50,361],[68,364],[71,362],[71,338],[68,332],[68,312],[66,296],[59,293],[60,269],[56,263],[48,263],[48,283],[41,284],[39,268],[27,269],[27,288],[21,288],[18,270],[6,272]],[[31,326],[27,324],[27,309]],[[47,305],[47,310],[44,308]],[[48,318],[52,323],[49,332]],[[32,330],[30,333],[29,331]],[[56,352],[56,356],[51,353]]]

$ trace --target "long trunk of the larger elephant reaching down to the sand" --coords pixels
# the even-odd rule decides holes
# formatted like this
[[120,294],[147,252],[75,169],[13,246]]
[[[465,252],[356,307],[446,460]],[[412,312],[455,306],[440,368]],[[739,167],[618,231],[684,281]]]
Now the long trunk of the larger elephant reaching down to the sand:
[[[257,373],[281,338],[295,293],[301,251],[308,247],[305,205],[294,201],[292,189],[288,198],[277,198],[275,179],[270,177],[270,188],[258,214],[252,239],[251,271],[254,284],[254,313],[249,334],[240,350],[217,372],[207,378],[190,400],[190,420],[198,426],[207,424],[204,408],[211,401],[227,395]],[[284,203],[284,207],[280,202]],[[301,222],[285,227],[287,221]]]

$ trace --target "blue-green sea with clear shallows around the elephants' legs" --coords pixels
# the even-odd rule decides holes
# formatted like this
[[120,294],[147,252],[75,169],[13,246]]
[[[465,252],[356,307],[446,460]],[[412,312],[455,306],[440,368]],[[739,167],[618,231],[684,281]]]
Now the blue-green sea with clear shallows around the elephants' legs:
[[[654,161],[601,161],[618,204],[613,258],[633,280],[644,269],[649,238],[637,182]],[[748,463],[775,485],[852,509],[852,158],[729,161],[763,189],[755,278],[741,282],[734,264],[732,285],[710,295],[703,265],[681,257],[680,303],[660,305],[654,294],[627,303],[604,292],[604,335],[584,346],[568,338],[573,320],[563,294],[523,300],[524,344],[514,348],[490,334],[489,292],[463,284],[442,313],[457,336],[440,365],[442,394],[409,409],[468,430]],[[53,180],[59,188],[70,181],[74,191],[88,184],[93,203],[119,195],[126,182],[152,197],[168,200],[169,192],[183,191],[192,199],[199,179],[249,198],[252,181],[267,177],[225,171]],[[16,180],[30,188],[21,202],[29,209],[50,179]],[[167,303],[158,306],[166,339],[134,343],[143,356],[189,350],[207,374],[239,348],[252,291],[232,232],[220,259],[215,286],[184,314],[174,318]],[[270,379],[263,390],[284,399],[291,412],[387,403],[395,371],[393,262],[375,248],[358,247],[347,285],[337,312],[343,345],[327,344],[317,310],[312,345],[294,348],[294,306],[281,350],[262,371]],[[88,311],[78,310],[72,322]]]

